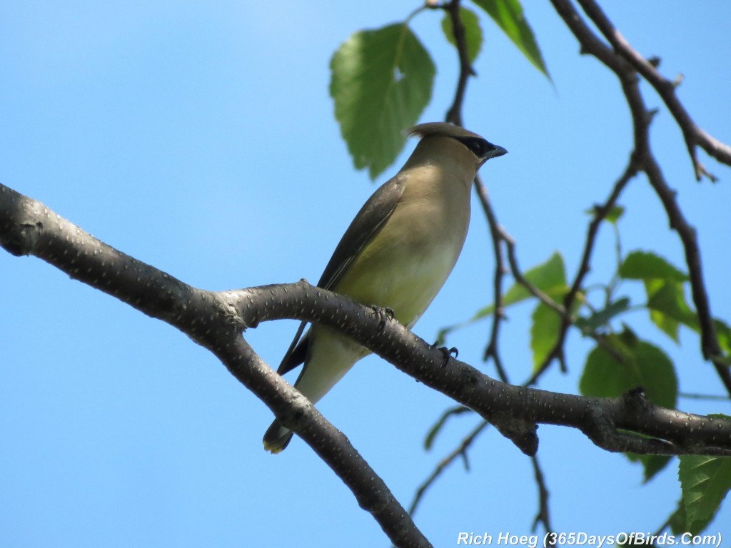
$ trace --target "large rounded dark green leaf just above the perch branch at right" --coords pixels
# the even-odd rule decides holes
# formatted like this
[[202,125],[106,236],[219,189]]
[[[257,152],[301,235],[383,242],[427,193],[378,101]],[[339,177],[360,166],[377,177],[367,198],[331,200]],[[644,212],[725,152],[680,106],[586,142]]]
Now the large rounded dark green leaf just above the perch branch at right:
[[601,346],[594,347],[586,358],[579,383],[583,395],[617,397],[642,387],[658,406],[675,408],[678,379],[673,362],[661,349],[623,334],[607,335],[604,340],[622,359]]

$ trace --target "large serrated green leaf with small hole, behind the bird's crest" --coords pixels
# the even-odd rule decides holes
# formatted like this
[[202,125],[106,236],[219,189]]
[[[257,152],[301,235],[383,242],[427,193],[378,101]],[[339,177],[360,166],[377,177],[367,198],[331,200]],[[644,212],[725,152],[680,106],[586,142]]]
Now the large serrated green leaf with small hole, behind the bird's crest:
[[431,99],[436,69],[406,23],[353,34],[330,60],[335,117],[356,169],[375,179]]

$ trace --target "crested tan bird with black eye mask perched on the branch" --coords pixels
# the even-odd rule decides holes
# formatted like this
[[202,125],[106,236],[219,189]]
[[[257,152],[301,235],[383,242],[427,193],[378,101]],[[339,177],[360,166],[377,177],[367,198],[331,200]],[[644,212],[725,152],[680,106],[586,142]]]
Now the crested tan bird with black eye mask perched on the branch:
[[[419,138],[412,155],[357,213],[317,286],[393,312],[411,330],[462,251],[477,170],[507,151],[452,123],[420,123],[405,133]],[[302,336],[306,323],[277,373],[303,363],[295,388],[316,403],[370,352],[324,325],[312,324]],[[291,440],[292,431],[275,419],[264,448],[279,453]]]

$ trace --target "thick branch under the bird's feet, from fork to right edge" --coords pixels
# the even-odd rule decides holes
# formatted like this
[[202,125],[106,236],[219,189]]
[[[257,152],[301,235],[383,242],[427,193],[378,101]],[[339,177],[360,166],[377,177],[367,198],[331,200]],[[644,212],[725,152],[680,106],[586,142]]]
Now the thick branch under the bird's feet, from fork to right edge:
[[[423,384],[477,411],[498,428],[543,423],[575,427],[594,433],[605,425],[667,441],[658,448],[642,438],[633,452],[640,454],[731,454],[731,421],[723,421],[654,406],[637,397],[583,397],[526,387],[490,378],[470,365],[449,358],[396,321],[382,321],[371,308],[330,293],[306,281],[227,292],[246,324],[275,319],[304,319],[325,324],[348,335]],[[608,451],[616,445],[590,436]],[[689,443],[690,442],[690,443]]]

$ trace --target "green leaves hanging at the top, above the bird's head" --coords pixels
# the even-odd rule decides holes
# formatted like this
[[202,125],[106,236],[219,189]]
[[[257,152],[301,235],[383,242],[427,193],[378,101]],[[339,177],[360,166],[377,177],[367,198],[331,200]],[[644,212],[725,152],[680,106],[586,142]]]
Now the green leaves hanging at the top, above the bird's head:
[[[533,31],[517,0],[479,0],[482,9],[528,60],[548,77]],[[409,27],[417,9],[401,23],[352,34],[330,59],[330,96],[335,117],[353,165],[375,179],[404,148],[403,130],[414,126],[431,99],[436,67],[428,50]],[[461,25],[469,62],[482,50],[482,28],[474,10],[461,7]],[[455,45],[453,20],[442,18],[444,38]]]

